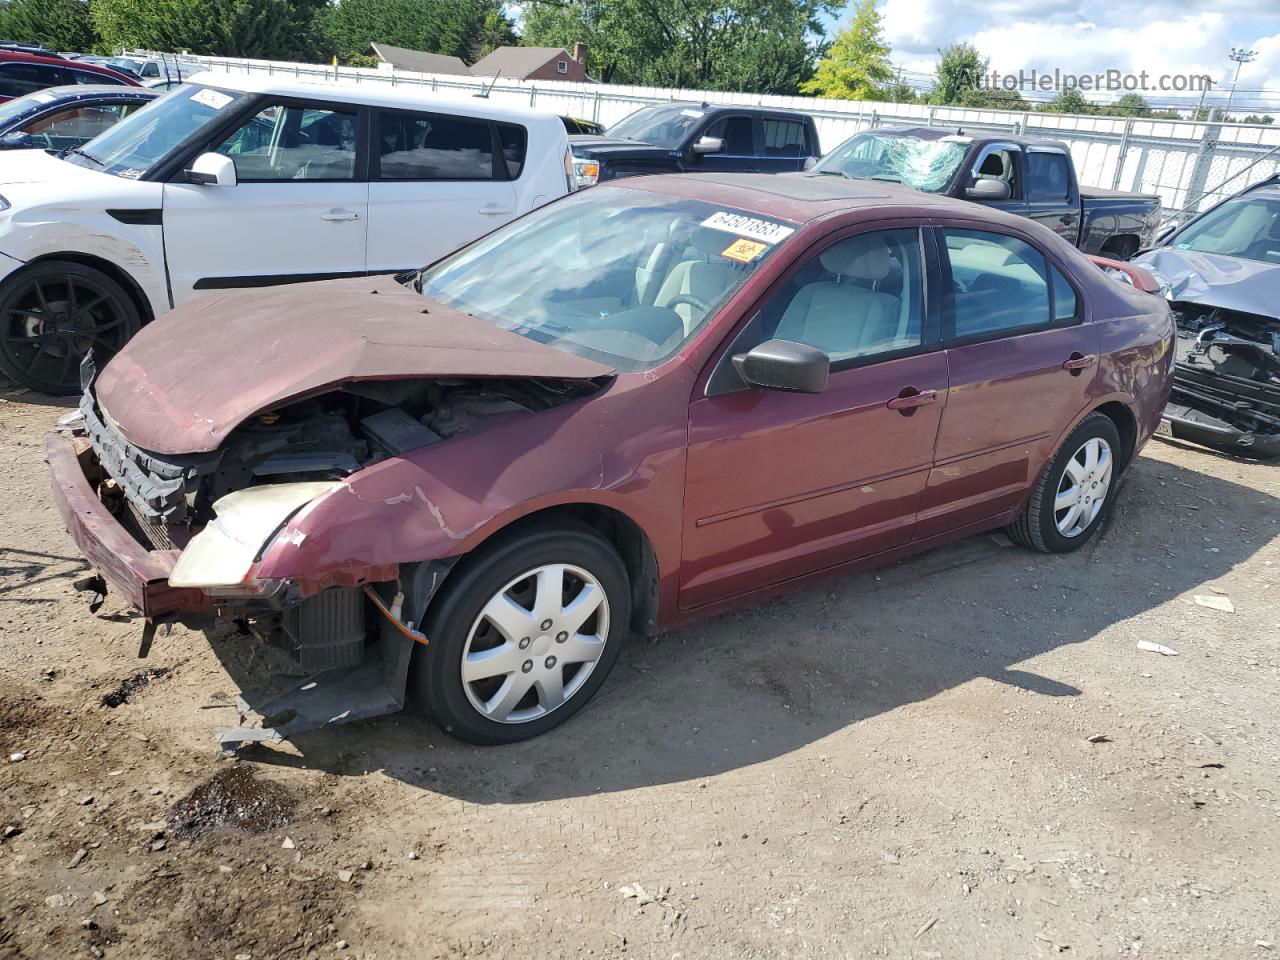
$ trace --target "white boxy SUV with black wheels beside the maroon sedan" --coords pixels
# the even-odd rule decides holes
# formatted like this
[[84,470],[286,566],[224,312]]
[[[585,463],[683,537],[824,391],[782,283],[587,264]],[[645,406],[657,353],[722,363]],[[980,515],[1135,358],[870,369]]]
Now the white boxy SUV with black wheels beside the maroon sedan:
[[205,291],[416,270],[570,189],[554,114],[204,73],[78,150],[0,156],[0,370],[77,389]]

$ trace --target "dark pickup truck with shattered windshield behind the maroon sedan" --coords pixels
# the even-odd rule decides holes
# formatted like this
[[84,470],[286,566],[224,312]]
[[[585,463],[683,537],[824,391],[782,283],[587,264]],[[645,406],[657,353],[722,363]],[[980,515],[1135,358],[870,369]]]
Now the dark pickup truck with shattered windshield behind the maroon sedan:
[[955,128],[864,131],[814,173],[888,180],[1037,220],[1085,253],[1125,260],[1151,244],[1160,197],[1082,187],[1065,143]]

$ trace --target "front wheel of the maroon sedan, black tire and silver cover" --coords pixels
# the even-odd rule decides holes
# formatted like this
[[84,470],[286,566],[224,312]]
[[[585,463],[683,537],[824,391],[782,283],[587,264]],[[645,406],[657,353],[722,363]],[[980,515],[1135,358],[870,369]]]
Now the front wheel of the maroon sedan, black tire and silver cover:
[[[541,604],[539,586],[550,598]],[[590,596],[600,604],[593,607]],[[580,626],[585,607],[575,611],[575,600],[594,611]],[[550,616],[534,620],[535,611]],[[512,536],[463,561],[431,602],[424,623],[429,643],[415,652],[410,695],[460,740],[529,740],[567,721],[600,689],[630,616],[626,567],[590,527],[559,525]]]

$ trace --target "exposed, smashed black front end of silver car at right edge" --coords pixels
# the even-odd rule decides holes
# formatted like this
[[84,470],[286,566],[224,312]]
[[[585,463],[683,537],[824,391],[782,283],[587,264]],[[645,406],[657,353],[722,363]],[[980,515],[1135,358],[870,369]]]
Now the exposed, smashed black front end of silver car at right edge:
[[1280,457],[1280,320],[1174,301],[1178,362],[1160,433],[1245,457]]

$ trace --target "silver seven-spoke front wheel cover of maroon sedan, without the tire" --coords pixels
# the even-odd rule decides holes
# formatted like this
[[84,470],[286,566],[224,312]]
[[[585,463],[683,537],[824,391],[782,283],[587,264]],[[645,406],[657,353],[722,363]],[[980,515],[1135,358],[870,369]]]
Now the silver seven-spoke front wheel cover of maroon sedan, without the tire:
[[590,572],[547,563],[498,590],[462,648],[462,689],[498,723],[526,723],[568,703],[604,653],[609,600]]

